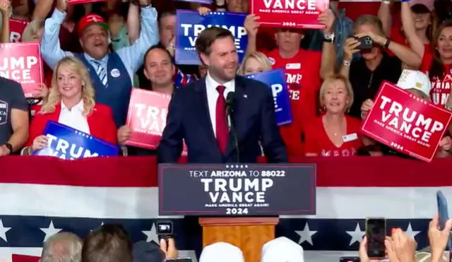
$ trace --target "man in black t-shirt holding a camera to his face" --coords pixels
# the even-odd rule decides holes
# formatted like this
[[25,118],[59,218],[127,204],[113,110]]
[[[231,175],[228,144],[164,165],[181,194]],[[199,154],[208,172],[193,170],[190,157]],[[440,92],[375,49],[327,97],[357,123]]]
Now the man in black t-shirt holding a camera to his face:
[[[408,47],[392,42],[384,36],[381,20],[376,16],[359,16],[354,24],[355,36],[344,44],[344,61],[340,74],[352,83],[355,102],[350,108],[352,117],[361,116],[364,100],[373,99],[383,81],[397,83],[402,73],[402,63],[417,68],[421,58]],[[384,49],[396,56],[388,56]],[[361,58],[352,61],[353,54]]]

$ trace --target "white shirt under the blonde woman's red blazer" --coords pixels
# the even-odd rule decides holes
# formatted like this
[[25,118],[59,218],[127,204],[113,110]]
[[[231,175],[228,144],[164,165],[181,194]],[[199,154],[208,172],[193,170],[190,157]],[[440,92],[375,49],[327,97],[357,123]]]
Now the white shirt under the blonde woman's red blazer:
[[69,109],[61,101],[61,112],[59,113],[58,122],[66,126],[71,126],[73,129],[90,134],[90,126],[88,120],[83,115],[83,100],[80,100],[77,105]]

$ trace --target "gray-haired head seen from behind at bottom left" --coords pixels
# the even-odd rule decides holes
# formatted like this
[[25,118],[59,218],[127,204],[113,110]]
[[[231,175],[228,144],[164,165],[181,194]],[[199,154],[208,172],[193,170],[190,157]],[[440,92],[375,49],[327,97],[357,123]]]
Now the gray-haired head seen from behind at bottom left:
[[42,247],[40,262],[80,262],[82,241],[76,234],[59,232]]

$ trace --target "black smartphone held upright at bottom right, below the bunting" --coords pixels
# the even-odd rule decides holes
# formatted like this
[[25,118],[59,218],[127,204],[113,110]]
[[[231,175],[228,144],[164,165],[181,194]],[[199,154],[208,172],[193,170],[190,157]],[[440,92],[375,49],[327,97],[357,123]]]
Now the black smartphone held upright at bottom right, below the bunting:
[[386,247],[386,219],[367,218],[366,220],[367,256],[369,258],[384,258]]

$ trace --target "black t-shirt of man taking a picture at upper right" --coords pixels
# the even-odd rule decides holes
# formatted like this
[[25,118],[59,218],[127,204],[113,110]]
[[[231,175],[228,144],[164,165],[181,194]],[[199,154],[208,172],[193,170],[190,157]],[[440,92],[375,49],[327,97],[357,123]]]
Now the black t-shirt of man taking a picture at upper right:
[[383,53],[381,63],[373,72],[367,68],[364,59],[352,62],[349,76],[355,101],[350,108],[350,115],[361,118],[362,102],[367,99],[373,100],[383,81],[397,83],[401,73],[402,61],[386,53]]

